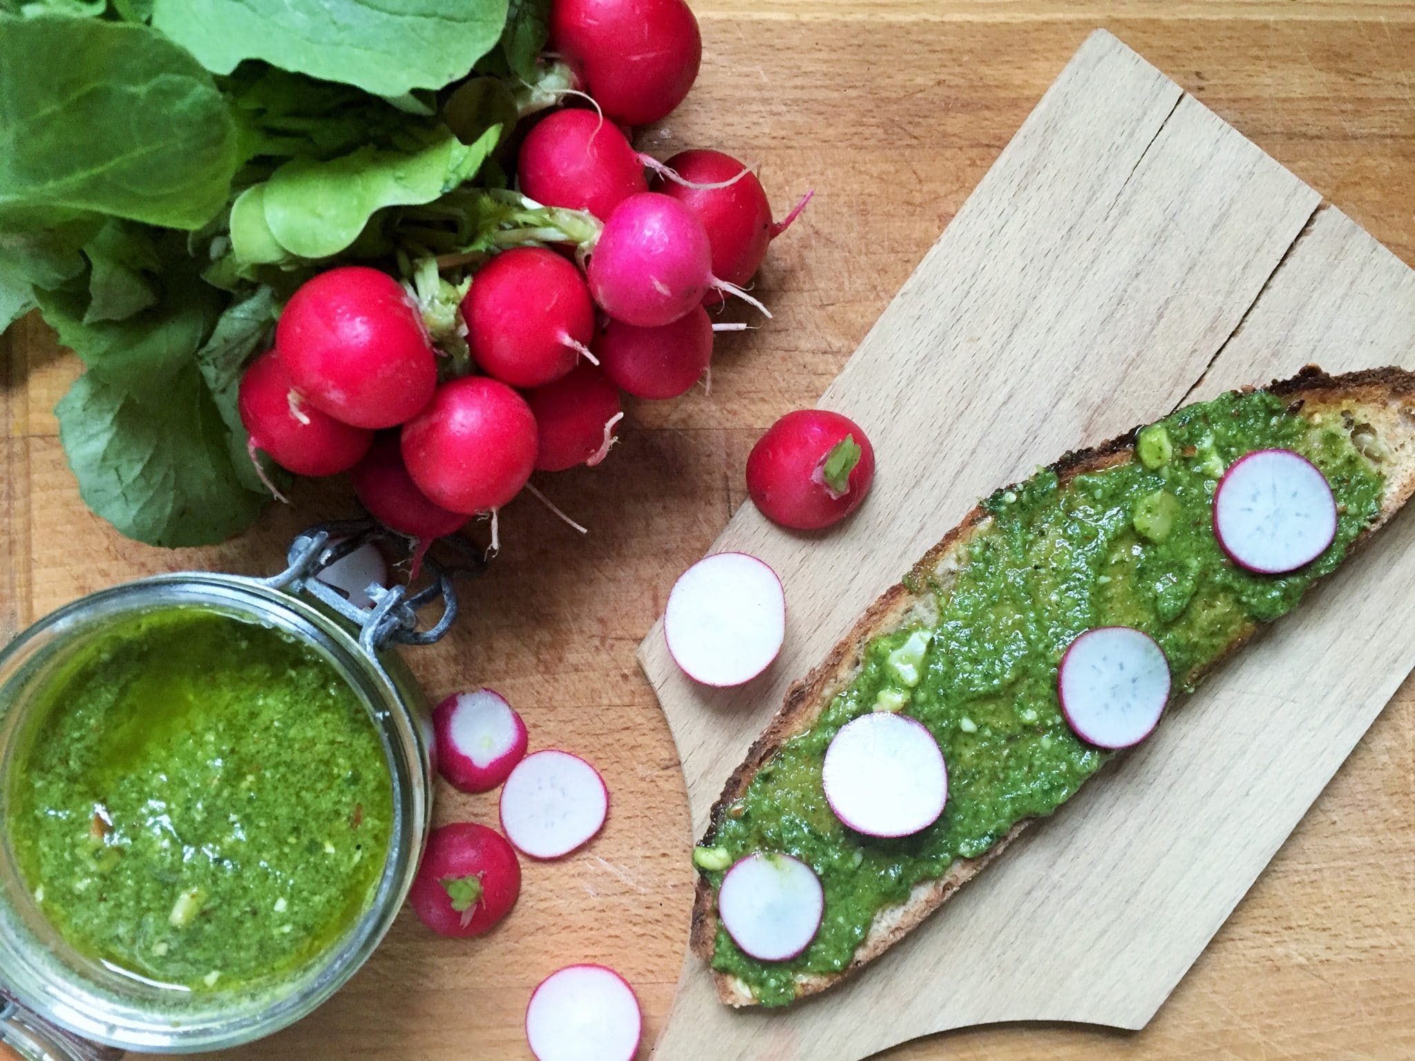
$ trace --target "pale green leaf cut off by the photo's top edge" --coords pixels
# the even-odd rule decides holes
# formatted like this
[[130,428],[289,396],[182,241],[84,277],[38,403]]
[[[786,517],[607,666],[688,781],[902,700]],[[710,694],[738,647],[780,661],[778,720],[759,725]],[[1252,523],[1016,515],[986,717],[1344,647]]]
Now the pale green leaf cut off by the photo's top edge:
[[501,40],[507,0],[156,0],[153,25],[209,71],[242,59],[376,96],[440,89]]

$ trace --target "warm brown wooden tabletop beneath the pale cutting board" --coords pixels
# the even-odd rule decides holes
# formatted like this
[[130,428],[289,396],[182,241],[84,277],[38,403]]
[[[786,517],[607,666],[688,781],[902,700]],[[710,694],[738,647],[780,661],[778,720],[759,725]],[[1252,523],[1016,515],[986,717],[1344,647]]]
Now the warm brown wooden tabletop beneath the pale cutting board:
[[[641,146],[661,156],[720,146],[761,161],[778,209],[816,188],[761,277],[777,318],[722,342],[710,398],[634,406],[604,465],[541,482],[591,525],[587,540],[531,505],[508,509],[507,545],[474,587],[461,628],[409,654],[430,695],[494,685],[522,710],[533,741],[594,760],[614,792],[610,823],[584,854],[528,864],[521,904],[494,935],[433,939],[405,915],[320,1013],[232,1058],[525,1057],[531,987],[583,959],[621,969],[641,993],[649,1040],[659,1033],[686,942],[692,832],[678,757],[634,649],[676,573],[741,505],[751,441],[826,389],[1097,25],[1415,262],[1411,4],[715,0],[696,8],[698,88]],[[1339,218],[1320,214],[1317,224]],[[1317,235],[1315,225],[1307,238]],[[1283,267],[1300,265],[1293,256]],[[1360,263],[1350,269],[1361,290]],[[1290,320],[1293,342],[1310,338],[1299,315]],[[0,632],[154,570],[272,570],[296,529],[345,511],[347,488],[328,484],[218,549],[125,542],[85,512],[64,468],[50,409],[78,372],[72,358],[33,320],[4,349]],[[1412,777],[1415,683],[1407,683],[1145,1031],[1013,1024],[889,1057],[1415,1055]],[[494,799],[443,795],[440,821],[494,821]],[[705,1047],[702,1057],[712,1055]]]

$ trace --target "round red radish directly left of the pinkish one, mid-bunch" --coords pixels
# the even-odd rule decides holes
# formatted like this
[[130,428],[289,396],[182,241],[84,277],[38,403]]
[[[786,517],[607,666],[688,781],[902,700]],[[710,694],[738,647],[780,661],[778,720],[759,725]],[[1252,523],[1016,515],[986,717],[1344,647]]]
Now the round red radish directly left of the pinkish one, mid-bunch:
[[559,379],[594,338],[594,304],[584,277],[546,248],[504,250],[477,270],[461,301],[471,356],[511,386]]

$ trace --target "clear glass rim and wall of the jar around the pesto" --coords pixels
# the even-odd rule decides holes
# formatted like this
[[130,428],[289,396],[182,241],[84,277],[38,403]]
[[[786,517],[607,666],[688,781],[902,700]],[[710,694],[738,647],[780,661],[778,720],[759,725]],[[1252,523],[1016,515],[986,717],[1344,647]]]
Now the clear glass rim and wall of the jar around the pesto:
[[272,580],[204,572],[161,574],[89,594],[31,625],[0,652],[0,778],[16,755],[18,736],[33,720],[33,706],[42,702],[38,693],[45,682],[115,625],[140,613],[183,607],[275,627],[338,671],[368,707],[379,733],[392,778],[393,826],[369,908],[341,939],[279,987],[188,993],[149,985],[76,952],[47,922],[4,835],[6,792],[0,787],[0,978],[23,1007],[45,1021],[98,1043],[156,1053],[249,1043],[328,999],[392,925],[417,870],[430,821],[426,705],[400,661],[376,648],[369,625],[361,638],[334,608],[300,596],[299,570],[291,572]]

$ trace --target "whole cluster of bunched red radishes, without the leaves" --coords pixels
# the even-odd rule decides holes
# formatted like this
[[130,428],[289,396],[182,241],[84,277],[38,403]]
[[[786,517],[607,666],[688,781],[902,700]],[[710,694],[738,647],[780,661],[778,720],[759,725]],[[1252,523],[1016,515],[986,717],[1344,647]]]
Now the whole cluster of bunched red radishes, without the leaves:
[[576,88],[521,139],[515,180],[526,209],[579,212],[574,253],[546,225],[499,233],[507,246],[490,256],[453,256],[464,294],[436,334],[422,286],[330,269],[290,297],[275,348],[241,383],[253,460],[352,471],[364,506],[417,547],[473,516],[492,519],[495,547],[497,512],[522,489],[539,495],[533,471],[604,460],[621,392],[688,392],[715,330],[744,327],[713,325],[708,308],[730,296],[766,311],[743,286],[809,199],[774,222],[739,160],[634,150],[625,129],[662,119],[698,75],[683,0],[555,0],[548,50]]

